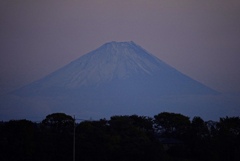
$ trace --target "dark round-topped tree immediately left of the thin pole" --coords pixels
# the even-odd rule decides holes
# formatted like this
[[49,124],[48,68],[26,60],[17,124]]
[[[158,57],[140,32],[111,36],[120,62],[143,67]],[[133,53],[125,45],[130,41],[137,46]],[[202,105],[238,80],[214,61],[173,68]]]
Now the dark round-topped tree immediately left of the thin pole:
[[41,123],[40,160],[72,160],[74,119],[53,113]]

